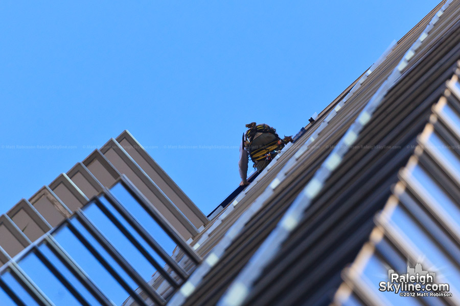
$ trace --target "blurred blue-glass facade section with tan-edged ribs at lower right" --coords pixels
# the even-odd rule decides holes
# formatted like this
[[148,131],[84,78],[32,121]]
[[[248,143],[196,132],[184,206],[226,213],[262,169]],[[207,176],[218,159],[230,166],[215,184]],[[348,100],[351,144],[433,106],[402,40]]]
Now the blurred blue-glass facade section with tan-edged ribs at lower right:
[[[457,74],[460,70],[457,69]],[[460,303],[460,83],[458,75],[432,108],[406,166],[398,172],[383,211],[375,218],[369,241],[354,263],[342,272],[334,304],[395,304],[395,294],[378,294],[371,269],[384,267],[400,274],[406,265],[421,264],[447,283],[452,296],[419,296],[418,304]],[[416,230],[408,230],[410,227]],[[420,240],[423,239],[423,243]],[[429,248],[429,249],[428,249]],[[421,257],[420,254],[425,254]],[[382,277],[383,281],[387,277]],[[443,291],[446,293],[445,291]]]

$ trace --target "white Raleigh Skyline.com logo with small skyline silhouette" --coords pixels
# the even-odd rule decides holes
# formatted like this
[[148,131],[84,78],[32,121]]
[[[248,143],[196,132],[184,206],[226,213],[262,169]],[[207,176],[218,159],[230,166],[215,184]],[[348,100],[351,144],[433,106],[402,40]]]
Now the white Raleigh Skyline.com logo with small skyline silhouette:
[[407,266],[407,273],[398,274],[388,270],[389,281],[379,283],[379,291],[394,292],[400,296],[452,296],[449,284],[435,283],[434,272],[424,271],[421,264]]

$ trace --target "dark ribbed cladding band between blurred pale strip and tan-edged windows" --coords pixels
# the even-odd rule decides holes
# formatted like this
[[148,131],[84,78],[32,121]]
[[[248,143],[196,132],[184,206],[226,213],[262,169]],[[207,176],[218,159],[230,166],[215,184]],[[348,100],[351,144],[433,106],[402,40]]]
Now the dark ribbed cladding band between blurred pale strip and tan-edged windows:
[[[453,25],[449,17],[454,19]],[[435,45],[420,56],[420,63],[388,93],[356,143],[358,147],[379,148],[349,152],[324,192],[305,212],[302,225],[268,265],[246,304],[331,301],[341,282],[341,270],[367,240],[375,212],[398,181],[399,169],[411,156],[416,136],[424,129],[431,106],[444,93],[445,82],[460,58],[458,3],[445,19],[444,33],[439,32]]]

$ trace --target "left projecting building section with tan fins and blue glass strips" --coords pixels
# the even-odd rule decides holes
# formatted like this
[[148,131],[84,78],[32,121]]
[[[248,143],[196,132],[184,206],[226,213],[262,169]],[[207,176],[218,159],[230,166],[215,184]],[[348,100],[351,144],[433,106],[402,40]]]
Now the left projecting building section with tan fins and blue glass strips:
[[124,131],[0,217],[0,304],[164,304],[208,223]]

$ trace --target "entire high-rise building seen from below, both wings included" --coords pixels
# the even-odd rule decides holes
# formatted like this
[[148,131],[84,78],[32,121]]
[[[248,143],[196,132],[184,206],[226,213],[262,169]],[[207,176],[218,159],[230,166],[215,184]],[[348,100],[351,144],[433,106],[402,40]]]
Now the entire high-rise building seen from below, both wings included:
[[208,217],[123,132],[0,217],[0,301],[459,305],[459,60],[442,1]]

